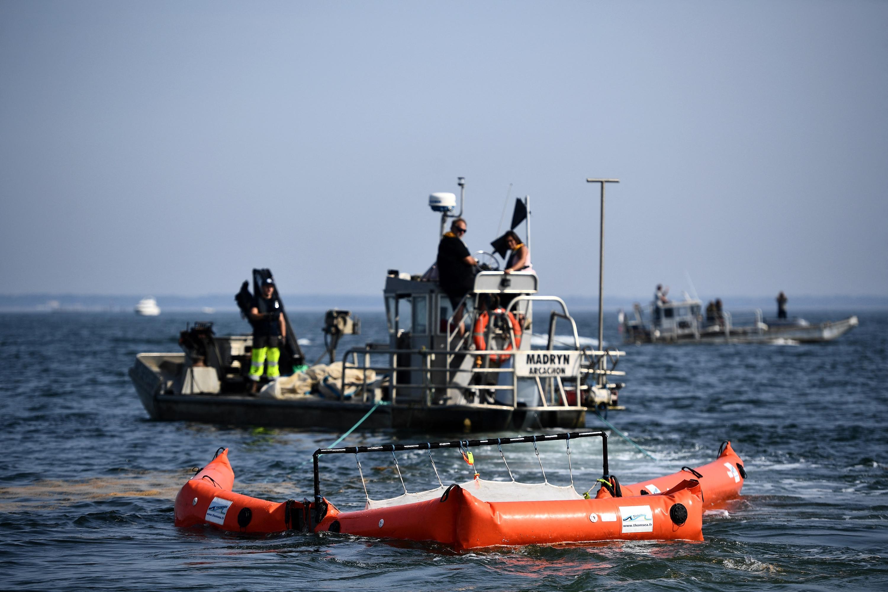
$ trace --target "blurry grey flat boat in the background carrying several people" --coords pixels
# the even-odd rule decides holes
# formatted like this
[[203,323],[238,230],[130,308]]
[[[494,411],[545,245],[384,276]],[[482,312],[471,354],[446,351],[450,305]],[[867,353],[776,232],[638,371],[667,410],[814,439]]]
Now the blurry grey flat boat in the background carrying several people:
[[745,314],[708,312],[702,302],[684,295],[682,300],[636,303],[620,324],[623,343],[821,343],[857,327],[856,316],[813,325],[797,317],[765,319],[761,309]]

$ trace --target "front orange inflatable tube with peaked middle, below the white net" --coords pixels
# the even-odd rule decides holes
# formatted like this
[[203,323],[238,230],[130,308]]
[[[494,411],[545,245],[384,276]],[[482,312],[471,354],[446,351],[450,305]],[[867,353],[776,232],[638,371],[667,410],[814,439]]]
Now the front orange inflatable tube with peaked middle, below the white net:
[[457,551],[591,541],[702,541],[700,484],[656,495],[591,500],[481,501],[451,485],[440,499],[388,508],[330,508],[316,531],[435,541]]

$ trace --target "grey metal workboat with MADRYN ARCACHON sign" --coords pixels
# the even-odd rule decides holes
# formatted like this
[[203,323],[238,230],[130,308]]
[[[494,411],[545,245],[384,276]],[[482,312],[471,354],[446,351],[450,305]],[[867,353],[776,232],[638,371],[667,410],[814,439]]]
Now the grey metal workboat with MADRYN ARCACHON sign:
[[[460,187],[463,203],[462,178]],[[452,211],[453,193],[432,193],[430,204],[441,212],[442,228],[462,213],[462,206],[460,214]],[[529,243],[529,222],[527,231]],[[360,423],[361,430],[450,433],[575,429],[584,426],[588,409],[617,408],[624,383],[615,379],[624,373],[615,367],[624,352],[581,342],[567,304],[540,294],[534,272],[505,273],[492,254],[476,256],[487,264],[456,309],[434,265],[421,274],[389,270],[383,288],[387,342],[350,348],[337,358],[339,337],[358,333],[360,325],[349,312],[331,310],[323,328],[329,365],[306,369],[301,352],[293,351],[281,357],[281,374],[289,375],[267,383],[258,396],[250,394],[247,377],[251,336],[215,335],[210,323],[182,333],[184,352],[139,353],[131,380],[155,420],[229,425],[346,430]],[[254,291],[261,271],[254,270]],[[535,307],[542,310],[538,316]],[[460,308],[463,328],[455,314]],[[287,334],[288,346],[297,347],[297,336]],[[534,346],[539,335],[543,344]]]

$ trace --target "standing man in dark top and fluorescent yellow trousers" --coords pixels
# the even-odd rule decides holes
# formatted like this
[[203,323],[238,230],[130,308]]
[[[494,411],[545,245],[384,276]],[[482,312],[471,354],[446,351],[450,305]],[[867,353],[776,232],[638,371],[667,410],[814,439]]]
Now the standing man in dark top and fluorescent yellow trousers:
[[281,375],[278,361],[281,359],[281,347],[287,343],[287,325],[281,314],[281,303],[274,294],[274,281],[268,278],[260,289],[262,293],[253,298],[250,308],[250,324],[253,326],[250,380],[253,381],[253,393],[259,390],[263,367],[271,380]]

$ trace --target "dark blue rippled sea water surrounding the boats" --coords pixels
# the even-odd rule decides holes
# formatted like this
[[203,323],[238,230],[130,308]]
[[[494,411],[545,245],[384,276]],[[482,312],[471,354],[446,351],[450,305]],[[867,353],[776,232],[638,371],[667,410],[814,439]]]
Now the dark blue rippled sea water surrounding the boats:
[[[796,311],[794,311],[796,312]],[[812,322],[850,312],[805,311]],[[605,339],[618,343],[613,314]],[[602,542],[488,549],[324,533],[245,536],[173,526],[178,488],[230,448],[241,493],[310,497],[312,452],[337,434],[154,422],[127,369],[141,351],[178,351],[188,321],[219,334],[249,331],[235,313],[0,315],[0,588],[225,590],[769,590],[888,587],[888,312],[810,345],[622,346],[625,411],[608,421],[654,455],[612,436],[622,482],[715,458],[730,439],[749,473],[741,500],[707,513],[703,542]],[[313,361],[322,314],[296,313]],[[382,313],[362,315],[352,344],[385,342]],[[577,315],[595,335],[595,312]],[[590,428],[603,424],[592,414]],[[529,433],[529,432],[528,432]],[[488,434],[504,436],[503,434]],[[461,438],[355,432],[346,445]],[[578,490],[601,472],[597,438],[571,442]],[[543,480],[533,447],[504,446],[516,478]],[[570,483],[564,442],[540,446],[551,483]],[[508,478],[496,448],[476,452],[484,478]],[[409,491],[438,485],[424,453],[399,454]],[[445,484],[471,478],[456,454],[435,452]],[[369,493],[403,493],[391,454],[361,459]],[[325,457],[323,493],[361,508],[353,456]]]

